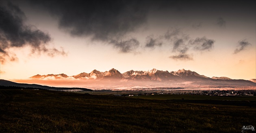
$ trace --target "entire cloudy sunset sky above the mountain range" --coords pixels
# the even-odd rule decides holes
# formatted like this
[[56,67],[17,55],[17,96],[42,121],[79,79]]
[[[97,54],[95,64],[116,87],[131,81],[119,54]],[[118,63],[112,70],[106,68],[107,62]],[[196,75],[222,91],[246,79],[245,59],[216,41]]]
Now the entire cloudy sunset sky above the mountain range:
[[111,68],[256,78],[255,1],[1,1],[0,78]]

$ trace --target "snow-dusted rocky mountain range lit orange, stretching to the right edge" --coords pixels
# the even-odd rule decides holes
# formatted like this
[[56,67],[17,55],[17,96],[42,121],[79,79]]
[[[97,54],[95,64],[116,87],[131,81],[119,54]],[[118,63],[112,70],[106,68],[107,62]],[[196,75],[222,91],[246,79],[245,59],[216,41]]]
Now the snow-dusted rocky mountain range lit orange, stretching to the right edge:
[[150,81],[150,82],[204,82],[207,84],[231,84],[231,85],[242,85],[242,86],[255,86],[256,83],[249,80],[233,80],[228,77],[212,77],[209,78],[204,75],[200,75],[197,72],[191,70],[178,70],[178,71],[161,71],[151,69],[148,71],[134,71],[130,70],[121,74],[116,69],[109,71],[100,72],[93,70],[90,73],[82,72],[74,76],[67,76],[66,74],[48,74],[48,75],[35,75],[30,78],[33,79],[59,79],[59,78],[75,78],[75,79],[87,79],[93,81],[104,81],[104,80],[120,80],[120,81]]

